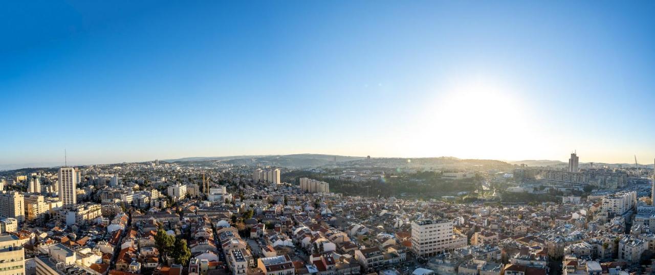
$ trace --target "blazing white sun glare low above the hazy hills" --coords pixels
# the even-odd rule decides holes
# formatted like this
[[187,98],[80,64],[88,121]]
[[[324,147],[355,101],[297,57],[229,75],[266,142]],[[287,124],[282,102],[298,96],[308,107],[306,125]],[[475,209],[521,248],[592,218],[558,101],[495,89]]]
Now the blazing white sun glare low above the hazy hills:
[[441,91],[426,106],[411,151],[420,155],[520,158],[535,141],[527,104],[510,88],[472,82]]

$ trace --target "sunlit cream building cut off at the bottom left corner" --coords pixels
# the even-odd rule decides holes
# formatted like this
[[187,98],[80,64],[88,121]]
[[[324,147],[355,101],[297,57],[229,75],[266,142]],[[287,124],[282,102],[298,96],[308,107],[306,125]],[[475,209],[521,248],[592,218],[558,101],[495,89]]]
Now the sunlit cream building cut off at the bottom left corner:
[[0,235],[0,274],[26,274],[25,250],[21,242],[12,234]]

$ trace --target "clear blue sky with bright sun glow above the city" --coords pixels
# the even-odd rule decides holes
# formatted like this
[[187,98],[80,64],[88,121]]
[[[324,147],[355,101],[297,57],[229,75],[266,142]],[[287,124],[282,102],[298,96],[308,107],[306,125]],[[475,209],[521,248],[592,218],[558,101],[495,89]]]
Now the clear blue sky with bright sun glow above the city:
[[[629,3],[630,5],[621,5]],[[13,1],[0,164],[650,163],[653,1]]]

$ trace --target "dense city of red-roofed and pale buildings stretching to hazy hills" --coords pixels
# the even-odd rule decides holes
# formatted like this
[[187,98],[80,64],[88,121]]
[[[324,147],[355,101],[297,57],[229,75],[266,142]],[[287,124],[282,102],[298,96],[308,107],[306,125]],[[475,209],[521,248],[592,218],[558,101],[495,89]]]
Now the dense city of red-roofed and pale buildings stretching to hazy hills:
[[0,172],[0,275],[655,271],[636,160],[282,158]]

